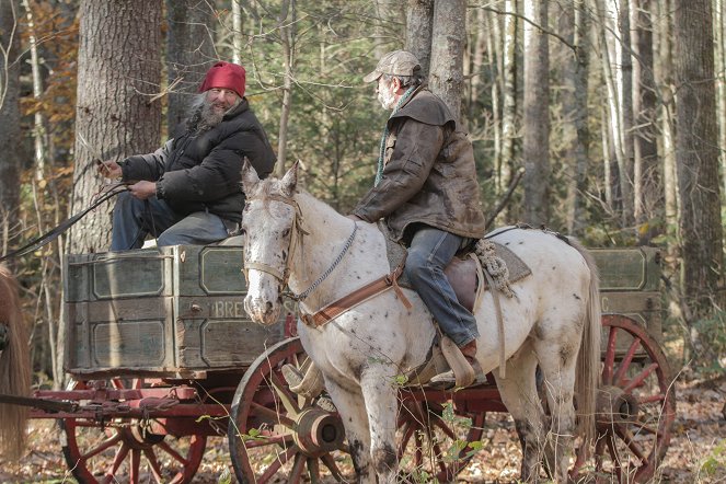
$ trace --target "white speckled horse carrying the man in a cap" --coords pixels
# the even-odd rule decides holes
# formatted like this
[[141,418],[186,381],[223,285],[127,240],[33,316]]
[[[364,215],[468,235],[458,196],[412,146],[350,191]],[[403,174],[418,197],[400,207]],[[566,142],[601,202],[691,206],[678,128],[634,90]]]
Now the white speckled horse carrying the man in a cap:
[[[249,285],[244,304],[256,322],[278,321],[286,284],[307,296],[300,311],[311,314],[391,273],[378,227],[354,222],[296,189],[297,164],[281,180],[260,181],[245,163],[242,184],[247,197],[242,222]],[[537,480],[544,457],[553,479],[564,482],[576,430],[574,394],[580,435],[595,429],[600,369],[596,267],[574,240],[540,230],[500,232],[492,240],[514,251],[532,275],[511,285],[516,297],[499,298],[507,367],[497,384],[522,442],[522,479]],[[339,260],[337,265],[334,260]],[[298,326],[302,346],[322,371],[343,418],[358,479],[365,483],[377,476],[380,483],[396,479],[395,377],[424,362],[436,333],[416,293],[404,293],[413,303],[410,310],[388,290],[327,324]],[[484,371],[491,371],[497,367],[502,342],[489,292],[475,315],[482,335],[476,356]],[[552,417],[538,396],[538,365]]]

